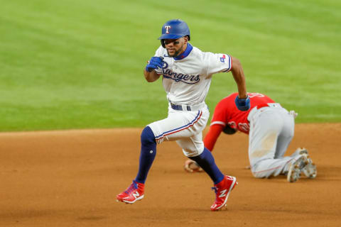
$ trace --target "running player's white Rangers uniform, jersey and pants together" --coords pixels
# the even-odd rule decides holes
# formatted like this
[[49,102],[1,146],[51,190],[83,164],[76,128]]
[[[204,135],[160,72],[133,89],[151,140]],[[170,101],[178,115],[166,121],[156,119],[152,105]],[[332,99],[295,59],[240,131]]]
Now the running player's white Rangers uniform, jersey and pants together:
[[168,57],[166,48],[156,50],[156,57],[163,57],[166,62],[156,72],[162,74],[163,87],[167,99],[172,104],[190,106],[181,111],[168,105],[167,118],[150,123],[156,143],[163,140],[176,140],[183,148],[184,155],[193,157],[204,150],[202,130],[205,128],[210,111],[205,104],[205,97],[212,79],[212,74],[229,72],[232,67],[231,57],[224,54],[202,52],[188,47],[178,57]]

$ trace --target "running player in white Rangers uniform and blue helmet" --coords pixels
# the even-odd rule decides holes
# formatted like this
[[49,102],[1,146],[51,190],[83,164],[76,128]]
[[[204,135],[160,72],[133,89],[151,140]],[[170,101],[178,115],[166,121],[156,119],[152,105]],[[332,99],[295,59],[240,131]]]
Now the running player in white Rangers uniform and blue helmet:
[[202,142],[202,130],[210,116],[205,97],[212,74],[231,71],[238,87],[235,105],[239,110],[247,111],[250,104],[242,65],[230,55],[202,52],[190,45],[190,29],[181,20],[167,21],[158,39],[161,46],[146,65],[144,77],[147,82],[155,82],[162,75],[168,116],[148,124],[142,131],[139,172],[133,183],[117,195],[117,201],[133,204],[144,198],[144,186],[156,156],[156,144],[176,141],[183,154],[197,162],[214,182],[216,198],[211,210],[217,211],[226,205],[237,179],[220,172],[210,150]]

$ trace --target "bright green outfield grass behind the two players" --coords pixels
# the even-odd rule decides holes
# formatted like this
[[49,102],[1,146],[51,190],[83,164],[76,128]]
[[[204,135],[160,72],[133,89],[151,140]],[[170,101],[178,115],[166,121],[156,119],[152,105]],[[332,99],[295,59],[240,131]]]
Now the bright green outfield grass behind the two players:
[[[239,58],[249,92],[296,122],[341,121],[341,1],[0,0],[0,131],[141,127],[166,117],[146,61],[181,18],[203,51]],[[211,114],[236,92],[215,74]]]

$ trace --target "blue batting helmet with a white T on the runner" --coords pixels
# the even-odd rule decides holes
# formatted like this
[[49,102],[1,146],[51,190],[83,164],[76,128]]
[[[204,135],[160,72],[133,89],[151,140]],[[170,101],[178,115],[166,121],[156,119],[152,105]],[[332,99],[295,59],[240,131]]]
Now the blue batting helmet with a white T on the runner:
[[162,35],[158,39],[161,40],[161,44],[163,48],[165,48],[163,40],[178,39],[186,35],[188,36],[188,40],[190,40],[190,28],[188,28],[187,23],[185,23],[185,21],[176,19],[167,21],[162,26]]

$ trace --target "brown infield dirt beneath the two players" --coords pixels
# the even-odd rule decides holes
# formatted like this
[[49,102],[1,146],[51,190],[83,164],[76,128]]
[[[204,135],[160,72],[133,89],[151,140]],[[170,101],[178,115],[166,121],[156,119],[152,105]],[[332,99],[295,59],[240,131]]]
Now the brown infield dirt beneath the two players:
[[341,123],[296,124],[288,154],[308,148],[318,177],[295,183],[252,177],[247,135],[222,135],[213,155],[239,185],[218,212],[209,177],[183,171],[175,142],[158,146],[144,199],[115,201],[136,176],[140,132],[0,133],[0,226],[341,225]]

